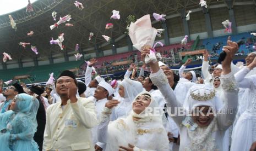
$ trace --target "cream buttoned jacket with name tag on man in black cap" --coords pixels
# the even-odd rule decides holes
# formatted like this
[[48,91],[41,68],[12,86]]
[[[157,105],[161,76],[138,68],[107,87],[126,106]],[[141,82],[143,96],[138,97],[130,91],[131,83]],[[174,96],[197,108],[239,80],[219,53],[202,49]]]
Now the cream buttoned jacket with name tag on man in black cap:
[[97,124],[94,102],[79,97],[75,103],[68,100],[52,104],[46,111],[43,150],[94,150],[90,130]]

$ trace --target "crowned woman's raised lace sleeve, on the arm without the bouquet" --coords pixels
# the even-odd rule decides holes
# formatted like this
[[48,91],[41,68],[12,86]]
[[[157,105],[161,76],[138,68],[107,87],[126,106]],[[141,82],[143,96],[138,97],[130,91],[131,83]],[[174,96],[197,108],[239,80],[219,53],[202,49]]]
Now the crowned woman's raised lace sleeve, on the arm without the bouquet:
[[225,106],[217,113],[217,123],[221,130],[226,130],[233,124],[238,106],[238,86],[232,72],[221,75],[223,94],[221,100]]

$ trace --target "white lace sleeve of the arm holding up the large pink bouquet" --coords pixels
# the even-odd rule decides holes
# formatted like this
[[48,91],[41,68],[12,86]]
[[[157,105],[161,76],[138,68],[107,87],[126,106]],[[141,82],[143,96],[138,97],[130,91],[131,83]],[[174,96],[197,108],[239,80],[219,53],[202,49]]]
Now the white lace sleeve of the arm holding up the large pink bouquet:
[[181,124],[185,115],[178,116],[177,113],[175,113],[175,108],[182,108],[182,104],[176,99],[165,73],[160,69],[156,73],[151,73],[149,77],[164,96],[170,117],[173,118],[177,125]]

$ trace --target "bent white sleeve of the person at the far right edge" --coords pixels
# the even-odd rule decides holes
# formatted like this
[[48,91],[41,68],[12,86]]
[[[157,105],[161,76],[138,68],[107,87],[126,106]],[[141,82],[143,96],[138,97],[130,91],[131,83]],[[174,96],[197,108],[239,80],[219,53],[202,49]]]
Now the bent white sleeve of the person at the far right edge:
[[252,88],[253,81],[251,78],[245,78],[246,74],[250,72],[250,69],[245,67],[235,74],[236,82],[239,88]]

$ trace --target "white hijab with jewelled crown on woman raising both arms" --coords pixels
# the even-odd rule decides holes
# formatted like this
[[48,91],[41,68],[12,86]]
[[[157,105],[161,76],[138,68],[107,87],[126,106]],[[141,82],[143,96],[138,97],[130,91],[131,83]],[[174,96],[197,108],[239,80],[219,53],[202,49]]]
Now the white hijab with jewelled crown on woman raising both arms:
[[[215,95],[215,90],[209,84],[196,84],[190,88],[187,94],[183,107],[186,111],[193,111],[198,106],[209,106],[213,108],[215,113],[220,111],[222,104],[218,96]],[[206,96],[205,99],[203,99]],[[187,117],[186,117],[187,118]],[[188,117],[191,118],[191,117]],[[190,120],[192,123],[193,120]],[[195,130],[187,128],[190,144],[185,147],[185,150],[215,150],[215,140],[211,138],[214,131],[217,131],[216,117],[211,121],[207,127],[196,127]]]

